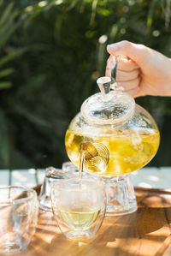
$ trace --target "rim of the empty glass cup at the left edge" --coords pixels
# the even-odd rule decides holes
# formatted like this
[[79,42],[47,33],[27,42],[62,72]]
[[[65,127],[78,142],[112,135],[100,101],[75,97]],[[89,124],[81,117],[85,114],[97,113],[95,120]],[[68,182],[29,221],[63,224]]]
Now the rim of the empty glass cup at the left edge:
[[34,196],[37,196],[36,191],[33,188],[27,188],[25,186],[17,186],[17,185],[9,185],[9,186],[0,186],[0,192],[1,189],[9,189],[9,188],[20,188],[21,193],[24,191],[29,192],[27,197],[21,198],[21,199],[4,199],[3,201],[0,201],[0,206],[1,205],[15,205],[15,204],[20,204],[22,202],[29,201],[30,199],[33,199]]

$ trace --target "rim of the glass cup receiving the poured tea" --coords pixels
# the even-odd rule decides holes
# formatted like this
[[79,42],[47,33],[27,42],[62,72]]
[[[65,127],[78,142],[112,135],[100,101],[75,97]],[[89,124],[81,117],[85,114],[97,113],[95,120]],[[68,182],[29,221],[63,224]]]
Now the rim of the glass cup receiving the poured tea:
[[[79,177],[72,177],[72,178],[68,178],[68,179],[63,179],[62,181],[58,181],[58,182],[54,182],[52,184],[52,190],[55,189],[55,190],[63,190],[63,191],[78,191],[78,189],[76,188],[60,188],[60,186],[62,186],[63,183],[65,182],[69,182],[69,181],[81,181]],[[101,180],[101,178],[99,178],[99,180],[96,180],[95,178],[93,177],[85,177],[85,178],[82,178],[82,181],[91,181],[91,182],[94,182],[95,183],[95,186],[93,188],[83,188],[81,189],[80,191],[81,192],[84,192],[84,191],[87,191],[87,190],[97,190],[97,188],[104,188],[105,184],[104,182]]]

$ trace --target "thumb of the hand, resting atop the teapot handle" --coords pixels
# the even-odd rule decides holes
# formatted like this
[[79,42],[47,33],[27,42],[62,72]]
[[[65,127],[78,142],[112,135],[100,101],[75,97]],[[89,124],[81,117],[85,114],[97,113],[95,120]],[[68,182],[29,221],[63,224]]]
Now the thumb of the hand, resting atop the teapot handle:
[[107,46],[107,51],[111,55],[123,55],[132,59],[139,66],[146,62],[147,47],[144,45],[133,44],[129,41],[121,41]]

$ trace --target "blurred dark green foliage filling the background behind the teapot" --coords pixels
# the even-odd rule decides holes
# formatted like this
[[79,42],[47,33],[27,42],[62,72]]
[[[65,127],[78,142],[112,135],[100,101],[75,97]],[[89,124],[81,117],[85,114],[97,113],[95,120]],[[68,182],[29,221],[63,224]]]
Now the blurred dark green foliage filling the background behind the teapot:
[[[171,57],[170,11],[171,0],[1,0],[0,168],[60,167],[68,123],[104,74],[106,45],[127,39]],[[162,134],[151,164],[171,165],[171,99],[136,101]]]

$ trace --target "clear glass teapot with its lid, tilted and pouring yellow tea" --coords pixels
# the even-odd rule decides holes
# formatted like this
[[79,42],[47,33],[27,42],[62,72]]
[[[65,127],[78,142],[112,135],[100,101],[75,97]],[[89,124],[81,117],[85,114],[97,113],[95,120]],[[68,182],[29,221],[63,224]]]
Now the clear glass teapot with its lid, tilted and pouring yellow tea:
[[87,98],[70,123],[65,145],[68,158],[98,176],[122,176],[139,170],[155,156],[160,134],[156,122],[114,79],[100,77],[101,92]]

